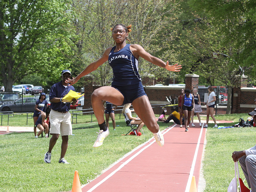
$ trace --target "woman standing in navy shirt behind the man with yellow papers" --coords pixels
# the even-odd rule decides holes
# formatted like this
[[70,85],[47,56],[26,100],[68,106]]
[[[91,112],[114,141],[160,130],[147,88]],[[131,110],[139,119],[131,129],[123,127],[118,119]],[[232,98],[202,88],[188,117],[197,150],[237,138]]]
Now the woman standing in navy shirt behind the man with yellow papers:
[[46,100],[45,93],[41,93],[39,96],[39,99],[36,101],[35,110],[33,114],[33,120],[34,120],[34,133],[36,137],[36,121],[39,117],[39,115],[43,112],[45,112],[45,109],[48,107],[48,102]]

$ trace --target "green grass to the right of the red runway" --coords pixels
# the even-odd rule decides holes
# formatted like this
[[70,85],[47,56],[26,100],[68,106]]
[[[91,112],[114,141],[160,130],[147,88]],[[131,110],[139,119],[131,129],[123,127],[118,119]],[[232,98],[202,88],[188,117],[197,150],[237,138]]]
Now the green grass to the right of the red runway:
[[[218,120],[235,120],[243,117],[247,119],[248,114],[226,115]],[[211,119],[211,118],[210,118]],[[221,124],[232,126],[233,124]],[[209,127],[212,127],[210,124]],[[234,127],[226,129],[208,128],[206,133],[207,144],[203,160],[203,174],[206,182],[204,192],[226,192],[230,181],[234,178],[234,162],[232,153],[251,148],[255,145],[255,127]],[[244,174],[239,165],[240,177],[244,180]],[[245,185],[247,185],[245,181]]]

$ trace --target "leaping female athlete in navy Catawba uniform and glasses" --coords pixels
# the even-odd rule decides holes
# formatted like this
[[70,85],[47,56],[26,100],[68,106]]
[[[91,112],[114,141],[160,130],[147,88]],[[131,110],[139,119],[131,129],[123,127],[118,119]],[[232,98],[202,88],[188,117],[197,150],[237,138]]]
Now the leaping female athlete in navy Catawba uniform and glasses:
[[138,73],[139,57],[147,60],[168,71],[180,71],[181,65],[169,65],[148,52],[138,44],[126,44],[131,25],[128,27],[123,24],[115,25],[112,30],[112,37],[116,43],[114,47],[108,47],[103,55],[97,61],[88,65],[78,76],[66,80],[70,85],[75,84],[81,77],[96,70],[104,62],[108,61],[113,68],[113,82],[111,86],[103,86],[92,93],[92,108],[100,126],[100,133],[93,145],[99,147],[103,140],[108,136],[109,131],[104,119],[104,106],[102,101],[106,100],[114,105],[124,105],[132,103],[136,114],[145,123],[148,129],[154,134],[158,145],[164,145],[164,137],[159,130],[156,117],[149,103],[148,96],[141,84]]

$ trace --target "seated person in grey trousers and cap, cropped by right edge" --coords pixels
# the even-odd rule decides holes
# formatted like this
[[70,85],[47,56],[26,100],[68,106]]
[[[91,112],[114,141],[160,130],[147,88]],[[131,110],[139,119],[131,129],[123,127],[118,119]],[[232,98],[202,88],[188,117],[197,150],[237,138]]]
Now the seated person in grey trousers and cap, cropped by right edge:
[[[253,116],[254,122],[256,121],[256,110],[248,115]],[[248,187],[252,192],[256,192],[256,145],[247,150],[234,151],[232,158],[234,162],[239,161]]]

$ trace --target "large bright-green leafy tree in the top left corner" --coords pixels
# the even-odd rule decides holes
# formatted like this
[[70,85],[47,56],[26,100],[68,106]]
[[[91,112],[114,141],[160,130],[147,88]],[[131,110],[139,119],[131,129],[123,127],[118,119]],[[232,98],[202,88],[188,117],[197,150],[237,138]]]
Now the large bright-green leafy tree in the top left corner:
[[[69,6],[65,0],[2,0],[0,6],[0,78],[5,90],[11,90],[13,83],[36,71],[45,48],[41,42],[63,32],[59,28],[68,23]],[[34,49],[37,45],[42,49]]]

